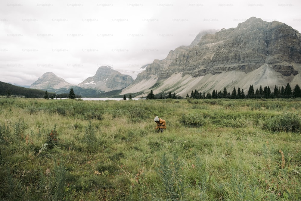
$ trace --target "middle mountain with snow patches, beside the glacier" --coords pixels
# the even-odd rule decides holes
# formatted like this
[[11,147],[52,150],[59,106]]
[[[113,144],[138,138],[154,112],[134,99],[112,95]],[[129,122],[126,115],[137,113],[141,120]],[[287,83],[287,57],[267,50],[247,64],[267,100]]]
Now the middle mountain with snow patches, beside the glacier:
[[110,66],[101,66],[97,69],[94,76],[88,77],[79,83],[78,86],[108,92],[126,88],[133,81],[131,76],[121,74],[119,71],[113,70]]

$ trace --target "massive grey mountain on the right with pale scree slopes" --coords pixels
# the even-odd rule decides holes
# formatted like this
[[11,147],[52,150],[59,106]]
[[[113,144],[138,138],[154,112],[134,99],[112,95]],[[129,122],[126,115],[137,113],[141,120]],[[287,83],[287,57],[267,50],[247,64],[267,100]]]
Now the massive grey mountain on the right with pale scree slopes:
[[[197,38],[197,37],[196,37]],[[198,39],[196,39],[198,40]],[[186,96],[250,85],[259,88],[300,84],[301,34],[277,21],[251,17],[236,28],[205,34],[199,42],[171,50],[155,59],[121,94],[146,96],[169,91]]]

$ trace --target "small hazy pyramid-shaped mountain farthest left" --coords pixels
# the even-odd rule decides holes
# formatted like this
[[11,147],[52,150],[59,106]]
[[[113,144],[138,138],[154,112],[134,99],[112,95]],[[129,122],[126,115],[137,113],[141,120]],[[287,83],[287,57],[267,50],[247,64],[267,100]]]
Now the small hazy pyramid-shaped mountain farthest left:
[[60,88],[68,88],[72,84],[65,81],[63,78],[57,77],[54,73],[44,73],[42,77],[39,77],[37,81],[30,85],[31,89],[41,89],[50,92],[55,92],[55,90]]

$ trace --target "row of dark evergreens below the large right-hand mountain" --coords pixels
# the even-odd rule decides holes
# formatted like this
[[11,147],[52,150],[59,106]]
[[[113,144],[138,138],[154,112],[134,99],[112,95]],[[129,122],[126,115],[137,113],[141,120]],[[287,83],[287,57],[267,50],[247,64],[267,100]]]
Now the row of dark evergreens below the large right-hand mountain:
[[[262,87],[260,85],[259,89],[256,88],[254,90],[253,85],[250,85],[249,90],[247,94],[244,93],[244,89],[240,89],[239,87],[234,87],[232,90],[232,93],[227,90],[226,87],[222,91],[213,90],[212,93],[208,92],[205,94],[205,92],[199,92],[198,90],[191,91],[190,96],[187,94],[186,98],[193,98],[193,99],[220,99],[220,98],[228,98],[228,99],[244,99],[244,98],[291,98],[291,97],[301,97],[301,89],[298,84],[292,88],[290,87],[290,84],[287,83],[287,85],[281,88],[275,85],[274,90],[272,91],[269,86]],[[147,93],[146,99],[181,99],[182,97],[180,94],[178,96],[171,92],[169,92],[169,95],[162,96],[162,93],[159,95],[154,95],[153,90],[151,90],[150,93]]]

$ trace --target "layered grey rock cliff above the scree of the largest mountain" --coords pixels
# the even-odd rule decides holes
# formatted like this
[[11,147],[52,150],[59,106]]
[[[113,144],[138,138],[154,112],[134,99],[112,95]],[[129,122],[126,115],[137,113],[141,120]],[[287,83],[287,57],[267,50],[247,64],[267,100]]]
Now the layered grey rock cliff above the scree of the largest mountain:
[[[300,41],[300,33],[286,24],[251,17],[236,28],[206,34],[197,46],[174,57],[166,71],[198,77],[233,70],[247,73],[267,63],[285,68],[285,75],[288,71],[296,74],[286,63],[301,62]],[[159,79],[168,76],[162,74]]]

